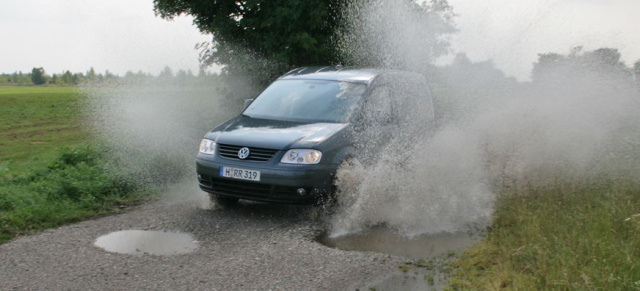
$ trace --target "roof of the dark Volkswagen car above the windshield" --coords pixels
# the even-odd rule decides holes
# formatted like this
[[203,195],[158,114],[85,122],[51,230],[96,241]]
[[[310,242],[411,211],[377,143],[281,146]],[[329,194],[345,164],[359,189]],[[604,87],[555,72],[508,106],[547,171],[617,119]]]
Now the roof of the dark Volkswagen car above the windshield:
[[331,80],[356,83],[371,83],[382,71],[375,69],[351,69],[335,67],[297,68],[282,75],[278,80]]

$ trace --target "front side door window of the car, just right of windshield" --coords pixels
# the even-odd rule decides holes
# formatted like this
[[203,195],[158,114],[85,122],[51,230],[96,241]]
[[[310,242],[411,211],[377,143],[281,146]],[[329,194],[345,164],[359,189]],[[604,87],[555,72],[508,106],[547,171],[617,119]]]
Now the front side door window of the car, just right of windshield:
[[391,88],[379,86],[367,97],[364,106],[364,119],[370,125],[387,125],[394,122],[393,96]]

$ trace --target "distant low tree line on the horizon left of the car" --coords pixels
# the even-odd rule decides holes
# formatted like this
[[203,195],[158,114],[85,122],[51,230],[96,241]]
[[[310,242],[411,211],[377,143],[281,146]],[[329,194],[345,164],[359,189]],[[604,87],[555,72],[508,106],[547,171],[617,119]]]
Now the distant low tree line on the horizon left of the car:
[[183,84],[206,84],[212,80],[217,80],[219,74],[209,73],[204,69],[200,69],[195,75],[191,70],[178,70],[173,72],[168,66],[157,75],[138,71],[136,73],[127,71],[123,76],[113,74],[108,70],[104,73],[96,72],[93,67],[82,73],[71,73],[67,70],[62,73],[47,74],[42,67],[33,68],[31,72],[23,73],[22,71],[11,74],[0,74],[0,85],[62,85],[75,86],[88,82],[119,82],[119,83],[158,83],[166,85],[183,85]]

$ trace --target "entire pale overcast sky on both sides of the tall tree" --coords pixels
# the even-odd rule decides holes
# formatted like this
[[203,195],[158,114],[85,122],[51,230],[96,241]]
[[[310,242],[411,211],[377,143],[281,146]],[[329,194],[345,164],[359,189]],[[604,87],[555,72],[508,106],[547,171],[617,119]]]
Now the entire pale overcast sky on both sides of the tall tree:
[[[529,77],[538,53],[613,47],[640,60],[640,0],[449,0],[460,32],[456,52],[491,59]],[[198,71],[196,43],[208,41],[187,17],[155,17],[151,0],[2,0],[0,73]]]

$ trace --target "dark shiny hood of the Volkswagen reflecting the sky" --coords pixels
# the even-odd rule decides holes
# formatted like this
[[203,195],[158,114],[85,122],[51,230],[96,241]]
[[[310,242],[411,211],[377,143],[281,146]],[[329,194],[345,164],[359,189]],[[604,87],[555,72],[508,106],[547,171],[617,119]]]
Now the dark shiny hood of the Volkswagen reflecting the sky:
[[271,149],[314,147],[348,123],[301,123],[239,116],[220,125],[207,138],[219,144]]

